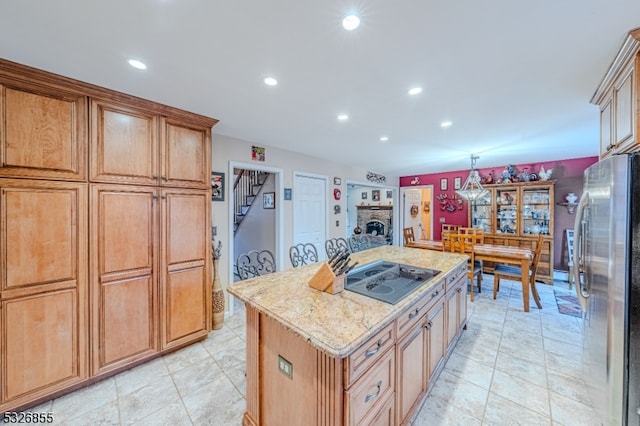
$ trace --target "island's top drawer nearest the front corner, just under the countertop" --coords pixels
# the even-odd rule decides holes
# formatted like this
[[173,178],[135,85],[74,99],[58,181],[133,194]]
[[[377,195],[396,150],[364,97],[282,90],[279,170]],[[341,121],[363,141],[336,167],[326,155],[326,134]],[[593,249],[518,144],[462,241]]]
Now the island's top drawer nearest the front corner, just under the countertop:
[[380,359],[387,349],[394,345],[395,338],[394,323],[391,323],[356,349],[344,364],[345,388],[349,387],[373,363]]

